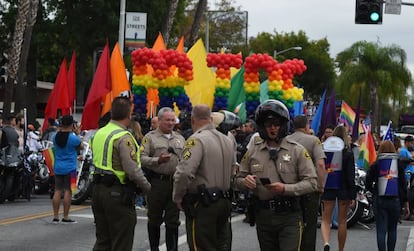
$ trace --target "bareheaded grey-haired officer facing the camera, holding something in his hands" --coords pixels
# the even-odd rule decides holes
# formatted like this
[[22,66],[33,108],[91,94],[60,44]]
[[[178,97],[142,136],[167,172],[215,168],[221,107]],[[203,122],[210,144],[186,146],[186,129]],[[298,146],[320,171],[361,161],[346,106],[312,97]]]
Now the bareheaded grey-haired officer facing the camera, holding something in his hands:
[[170,107],[158,112],[158,128],[147,133],[142,139],[141,163],[149,171],[152,185],[147,195],[148,237],[151,250],[158,250],[160,226],[165,222],[167,250],[177,250],[178,226],[180,225],[177,206],[172,201],[173,179],[185,140],[173,131],[175,113]]

